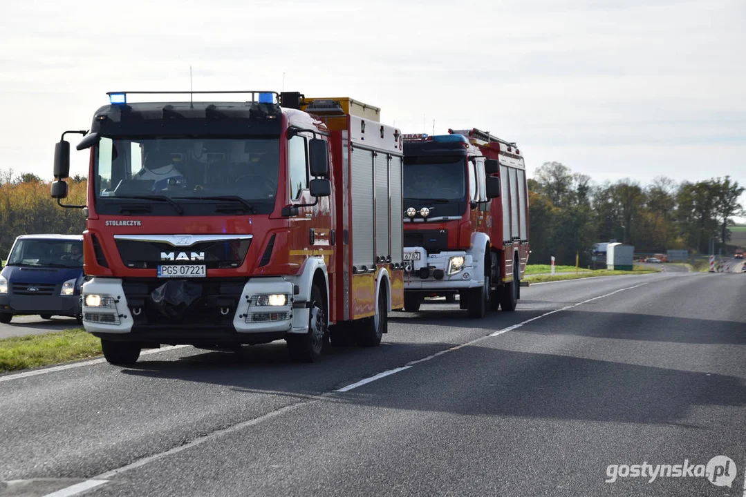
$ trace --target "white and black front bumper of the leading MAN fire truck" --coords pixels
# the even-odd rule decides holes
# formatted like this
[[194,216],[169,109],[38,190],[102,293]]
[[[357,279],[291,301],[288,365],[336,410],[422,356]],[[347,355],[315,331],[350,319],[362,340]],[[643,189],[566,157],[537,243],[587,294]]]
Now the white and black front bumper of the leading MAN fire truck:
[[[186,281],[200,288],[199,297],[186,303],[178,296],[184,292],[171,292],[167,302],[154,298],[154,288],[167,282]],[[283,338],[287,332],[305,332],[293,329],[292,323],[307,323],[307,308],[294,308],[294,286],[280,277],[241,279],[216,282],[211,279],[177,280],[146,279],[125,281],[117,278],[97,278],[85,282],[82,289],[83,324],[87,332],[114,336],[127,340],[137,336],[144,341],[161,343],[202,343],[232,341],[260,343],[259,335],[272,339]],[[260,305],[260,295],[285,295],[280,306]],[[88,302],[86,297],[92,297]],[[176,296],[176,297],[174,297]],[[98,300],[104,306],[89,306]],[[263,299],[266,300],[266,299]],[[305,316],[305,319],[304,319]]]

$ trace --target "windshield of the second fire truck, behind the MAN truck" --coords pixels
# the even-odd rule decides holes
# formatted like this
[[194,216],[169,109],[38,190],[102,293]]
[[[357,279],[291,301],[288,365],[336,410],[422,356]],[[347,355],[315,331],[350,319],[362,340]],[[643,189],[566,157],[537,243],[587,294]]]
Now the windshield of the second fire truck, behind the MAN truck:
[[404,157],[404,197],[463,200],[464,157]]

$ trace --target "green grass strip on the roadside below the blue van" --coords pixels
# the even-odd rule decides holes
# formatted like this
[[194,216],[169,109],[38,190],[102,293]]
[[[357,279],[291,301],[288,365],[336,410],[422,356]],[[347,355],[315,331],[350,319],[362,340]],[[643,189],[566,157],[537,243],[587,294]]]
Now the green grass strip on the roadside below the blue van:
[[84,329],[0,340],[0,373],[101,355],[101,341]]

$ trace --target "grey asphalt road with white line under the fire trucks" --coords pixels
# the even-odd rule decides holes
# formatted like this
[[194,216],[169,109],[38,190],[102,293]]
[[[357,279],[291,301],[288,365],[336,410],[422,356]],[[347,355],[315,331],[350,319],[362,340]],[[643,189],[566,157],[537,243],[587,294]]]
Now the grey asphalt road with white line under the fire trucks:
[[[0,376],[0,495],[743,496],[746,275],[521,295],[483,320],[396,312],[380,347],[317,364],[182,347]],[[732,487],[694,476],[710,460]]]

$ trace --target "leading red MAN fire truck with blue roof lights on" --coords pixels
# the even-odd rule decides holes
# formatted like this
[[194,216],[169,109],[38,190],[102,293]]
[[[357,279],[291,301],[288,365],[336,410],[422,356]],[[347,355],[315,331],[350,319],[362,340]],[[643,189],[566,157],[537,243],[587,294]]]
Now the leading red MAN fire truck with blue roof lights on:
[[327,338],[379,344],[404,305],[399,130],[349,98],[141,93],[110,92],[91,130],[55,148],[61,206],[65,135],[91,149],[81,300],[107,361],[160,344],[284,339],[295,361]]

